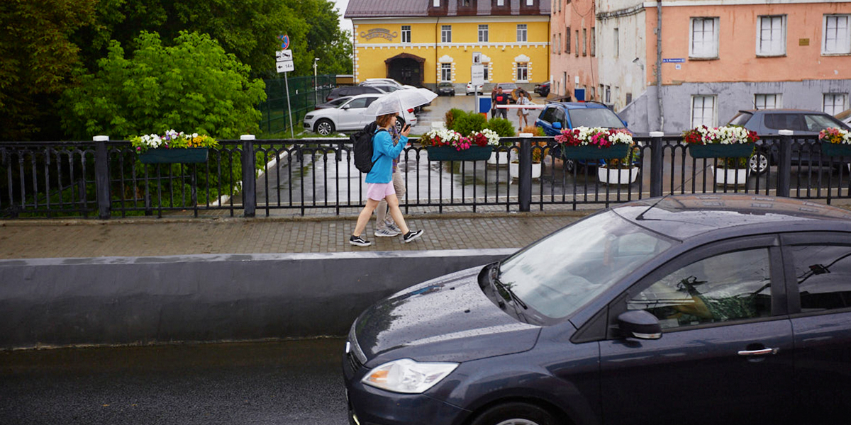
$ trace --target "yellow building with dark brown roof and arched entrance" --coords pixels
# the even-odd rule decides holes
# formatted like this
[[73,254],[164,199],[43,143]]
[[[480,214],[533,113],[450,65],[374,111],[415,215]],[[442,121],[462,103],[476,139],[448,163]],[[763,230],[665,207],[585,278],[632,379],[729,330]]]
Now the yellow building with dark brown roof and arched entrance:
[[350,0],[345,17],[354,26],[356,83],[393,78],[463,90],[474,54],[485,82],[530,89],[550,80],[550,0]]

